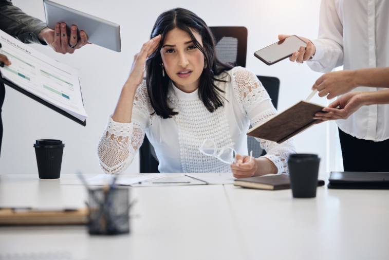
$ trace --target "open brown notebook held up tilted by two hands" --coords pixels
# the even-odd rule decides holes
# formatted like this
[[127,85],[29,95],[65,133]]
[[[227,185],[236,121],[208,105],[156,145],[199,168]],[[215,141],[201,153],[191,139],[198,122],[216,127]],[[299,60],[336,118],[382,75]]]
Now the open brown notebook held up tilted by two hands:
[[320,121],[313,117],[324,107],[302,100],[262,124],[249,129],[247,135],[283,143]]

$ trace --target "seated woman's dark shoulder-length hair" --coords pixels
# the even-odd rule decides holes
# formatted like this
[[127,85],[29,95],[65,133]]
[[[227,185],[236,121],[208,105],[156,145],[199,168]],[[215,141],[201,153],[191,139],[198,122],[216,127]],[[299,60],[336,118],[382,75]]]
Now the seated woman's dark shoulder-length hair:
[[[221,79],[216,79],[215,76],[220,75],[225,70],[232,69],[233,65],[223,63],[217,59],[215,37],[200,17],[189,10],[175,8],[158,16],[150,36],[150,39],[152,39],[159,34],[162,35],[159,48],[146,61],[146,86],[151,105],[154,109],[152,115],[157,114],[163,119],[166,119],[178,114],[177,112],[173,112],[173,108],[168,105],[170,78],[168,75],[162,77],[162,67],[160,66],[162,63],[160,50],[165,36],[174,28],[188,32],[194,46],[205,56],[207,68],[202,71],[200,76],[198,97],[209,112],[212,113],[218,107],[224,105],[223,97],[220,95],[220,92],[224,91],[218,88],[214,84],[214,81],[226,82]],[[203,47],[196,40],[191,29],[201,36]]]

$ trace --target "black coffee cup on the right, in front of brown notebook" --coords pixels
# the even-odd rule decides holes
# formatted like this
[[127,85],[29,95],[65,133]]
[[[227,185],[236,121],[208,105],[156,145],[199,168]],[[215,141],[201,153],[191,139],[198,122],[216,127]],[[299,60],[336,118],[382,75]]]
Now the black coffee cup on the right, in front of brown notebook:
[[314,198],[318,187],[320,158],[316,154],[292,154],[288,159],[294,198]]

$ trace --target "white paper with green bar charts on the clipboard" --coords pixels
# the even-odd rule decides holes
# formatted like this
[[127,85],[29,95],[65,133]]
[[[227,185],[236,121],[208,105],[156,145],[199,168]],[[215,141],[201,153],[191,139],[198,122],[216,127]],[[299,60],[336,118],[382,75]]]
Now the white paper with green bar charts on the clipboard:
[[77,69],[47,57],[3,31],[0,35],[2,54],[12,63],[0,68],[3,78],[81,120],[86,119]]

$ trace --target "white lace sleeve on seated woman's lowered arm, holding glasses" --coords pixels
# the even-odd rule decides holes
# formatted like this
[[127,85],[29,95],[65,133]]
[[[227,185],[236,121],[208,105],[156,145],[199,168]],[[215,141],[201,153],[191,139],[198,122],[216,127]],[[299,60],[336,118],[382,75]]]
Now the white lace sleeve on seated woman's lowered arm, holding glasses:
[[[233,79],[234,94],[238,100],[240,110],[249,117],[250,124],[253,127],[277,114],[277,110],[270,102],[269,94],[267,94],[266,89],[253,72],[237,67],[233,73]],[[266,151],[264,157],[271,160],[277,167],[277,173],[288,174],[287,158],[290,154],[296,153],[292,139],[282,144],[260,138],[255,139],[260,142],[261,148]]]

